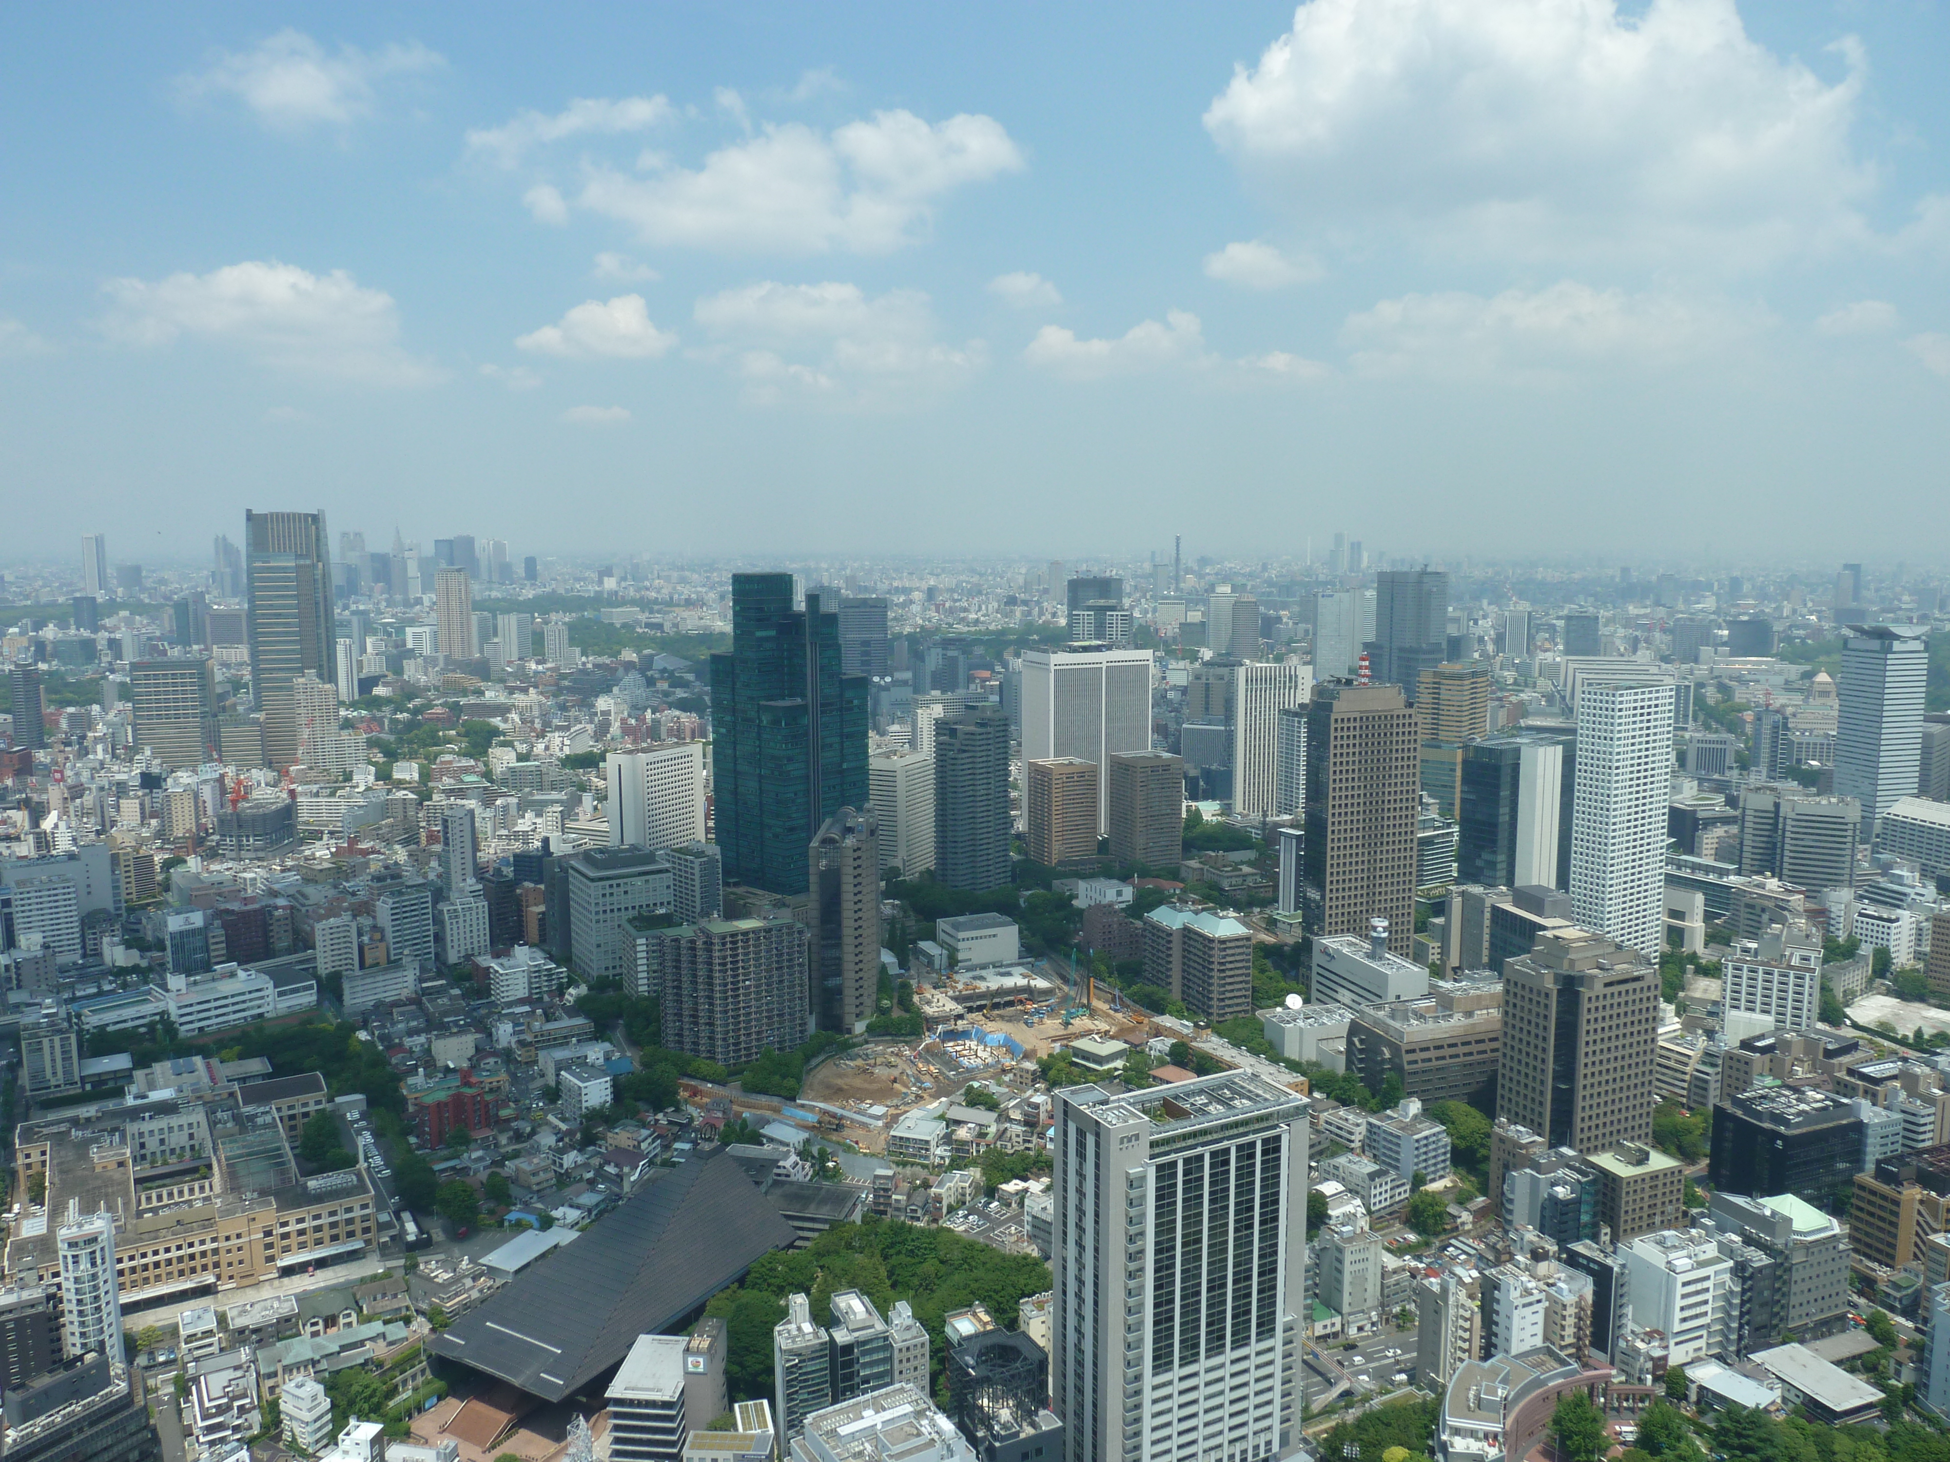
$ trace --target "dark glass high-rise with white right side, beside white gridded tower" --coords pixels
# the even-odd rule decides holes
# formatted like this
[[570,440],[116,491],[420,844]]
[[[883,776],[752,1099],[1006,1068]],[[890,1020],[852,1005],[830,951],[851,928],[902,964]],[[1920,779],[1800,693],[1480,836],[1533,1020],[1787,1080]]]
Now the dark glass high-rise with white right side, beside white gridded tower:
[[1523,733],[1486,737],[1464,749],[1461,784],[1457,879],[1556,887],[1564,747]]

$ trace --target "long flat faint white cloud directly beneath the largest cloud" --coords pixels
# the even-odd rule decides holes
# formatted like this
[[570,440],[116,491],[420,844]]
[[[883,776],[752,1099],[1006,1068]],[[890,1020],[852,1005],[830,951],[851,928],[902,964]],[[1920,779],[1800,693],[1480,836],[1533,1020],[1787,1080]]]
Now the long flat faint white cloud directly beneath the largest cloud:
[[1347,316],[1342,343],[1369,376],[1554,378],[1570,368],[1667,365],[1751,327],[1718,304],[1560,281],[1494,298],[1451,290],[1381,300]]

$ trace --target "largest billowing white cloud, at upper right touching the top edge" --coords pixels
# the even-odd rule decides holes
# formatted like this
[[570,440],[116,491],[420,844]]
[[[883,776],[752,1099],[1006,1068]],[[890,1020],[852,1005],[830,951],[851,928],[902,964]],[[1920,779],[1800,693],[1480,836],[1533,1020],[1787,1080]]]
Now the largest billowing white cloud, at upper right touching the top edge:
[[1734,0],[1310,0],[1211,103],[1217,144],[1326,236],[1431,253],[1739,267],[1862,238],[1843,78]]

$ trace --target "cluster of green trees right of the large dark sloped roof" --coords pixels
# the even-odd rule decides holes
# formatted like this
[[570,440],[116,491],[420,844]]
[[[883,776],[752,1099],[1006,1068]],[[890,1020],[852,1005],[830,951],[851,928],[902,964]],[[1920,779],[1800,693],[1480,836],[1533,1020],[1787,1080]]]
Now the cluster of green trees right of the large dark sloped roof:
[[[1049,1265],[1034,1255],[996,1253],[948,1228],[868,1220],[835,1224],[798,1251],[766,1253],[743,1285],[706,1306],[727,1329],[725,1378],[733,1400],[772,1394],[772,1327],[786,1318],[786,1296],[805,1294],[813,1320],[825,1324],[833,1294],[856,1289],[887,1314],[907,1300],[928,1331],[936,1392],[942,1390],[942,1318],[981,1302],[998,1324],[1051,1285]],[[942,1398],[946,1400],[946,1396]],[[1381,1462],[1377,1456],[1375,1462]]]

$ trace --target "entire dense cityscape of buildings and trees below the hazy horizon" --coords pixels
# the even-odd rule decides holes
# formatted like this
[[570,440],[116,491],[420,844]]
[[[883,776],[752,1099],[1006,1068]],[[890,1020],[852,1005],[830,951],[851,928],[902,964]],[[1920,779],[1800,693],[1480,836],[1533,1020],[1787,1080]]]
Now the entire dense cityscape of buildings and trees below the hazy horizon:
[[1940,571],[6,600],[10,1456],[1942,1444]]

